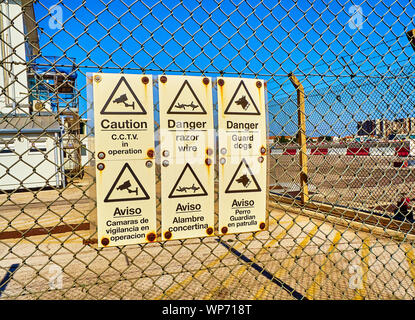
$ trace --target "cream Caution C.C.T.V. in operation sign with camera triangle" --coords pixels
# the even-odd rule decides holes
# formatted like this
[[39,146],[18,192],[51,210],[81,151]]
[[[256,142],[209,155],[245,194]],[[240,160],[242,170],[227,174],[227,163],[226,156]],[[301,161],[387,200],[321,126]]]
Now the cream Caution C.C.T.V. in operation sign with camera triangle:
[[95,155],[105,160],[153,158],[151,77],[95,73],[93,96]]

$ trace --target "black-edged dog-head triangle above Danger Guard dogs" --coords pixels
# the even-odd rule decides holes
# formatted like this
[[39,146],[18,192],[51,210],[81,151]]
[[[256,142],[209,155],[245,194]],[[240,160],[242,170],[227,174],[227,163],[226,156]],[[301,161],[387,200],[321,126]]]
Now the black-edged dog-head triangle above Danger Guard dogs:
[[241,80],[238,87],[236,88],[235,93],[233,94],[228,106],[226,107],[224,114],[261,114],[243,80]]

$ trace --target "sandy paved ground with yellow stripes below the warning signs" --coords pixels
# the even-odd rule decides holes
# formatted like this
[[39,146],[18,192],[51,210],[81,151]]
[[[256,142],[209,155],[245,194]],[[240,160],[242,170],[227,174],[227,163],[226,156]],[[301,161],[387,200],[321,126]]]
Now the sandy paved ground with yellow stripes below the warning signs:
[[[0,196],[0,230],[92,219],[91,181]],[[337,190],[337,189],[336,189]],[[413,299],[412,237],[363,231],[288,206],[269,231],[96,249],[91,231],[0,240],[2,299]],[[238,258],[238,254],[242,254]],[[56,267],[56,266],[59,266]],[[62,270],[62,277],[57,277]],[[7,278],[7,277],[6,277]],[[59,283],[59,280],[62,283]],[[57,287],[57,288],[56,288]],[[51,289],[52,288],[52,289]],[[290,293],[289,293],[290,292]]]

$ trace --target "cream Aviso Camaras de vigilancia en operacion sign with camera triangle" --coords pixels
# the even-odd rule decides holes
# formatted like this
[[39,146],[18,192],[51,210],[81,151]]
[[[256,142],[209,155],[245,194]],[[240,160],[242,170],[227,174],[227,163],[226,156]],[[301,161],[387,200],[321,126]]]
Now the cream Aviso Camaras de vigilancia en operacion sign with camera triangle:
[[98,246],[157,240],[153,160],[97,161]]

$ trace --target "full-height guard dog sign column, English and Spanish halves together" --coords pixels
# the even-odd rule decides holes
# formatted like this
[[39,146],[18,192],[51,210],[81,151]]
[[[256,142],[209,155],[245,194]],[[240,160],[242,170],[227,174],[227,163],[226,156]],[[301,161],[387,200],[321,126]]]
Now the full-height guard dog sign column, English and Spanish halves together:
[[267,227],[264,81],[218,78],[219,233]]

